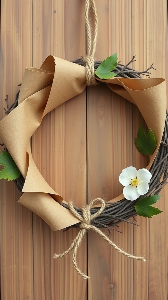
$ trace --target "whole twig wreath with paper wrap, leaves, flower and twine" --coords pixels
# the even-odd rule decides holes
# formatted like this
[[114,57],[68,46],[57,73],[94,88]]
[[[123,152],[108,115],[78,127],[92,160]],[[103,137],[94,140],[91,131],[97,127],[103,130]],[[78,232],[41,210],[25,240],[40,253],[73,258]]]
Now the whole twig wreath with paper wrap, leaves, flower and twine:
[[[90,9],[94,18],[93,38],[88,21]],[[52,230],[72,226],[80,228],[68,250],[54,257],[65,256],[74,250],[74,267],[87,279],[89,277],[77,266],[77,250],[89,229],[99,233],[120,253],[145,261],[144,257],[121,250],[100,228],[109,229],[122,221],[129,222],[127,219],[136,214],[151,217],[161,212],[152,204],[160,198],[158,193],[168,178],[168,114],[165,79],[140,77],[141,74],[148,75],[152,66],[143,72],[132,70],[129,64],[135,56],[124,66],[117,63],[116,53],[102,63],[94,60],[97,14],[93,0],[85,1],[85,20],[88,55],[74,62],[50,55],[39,69],[27,67],[19,98],[16,97],[11,107],[7,102],[7,116],[0,122],[0,136],[7,149],[0,154],[0,164],[4,166],[0,178],[15,179],[22,191],[18,202],[39,215]],[[97,85],[99,81],[140,110],[149,131],[146,135],[140,128],[135,145],[143,155],[150,156],[150,161],[146,169],[137,171],[130,166],[121,170],[119,181],[124,188],[120,196],[108,202],[97,198],[89,205],[77,208],[72,202],[63,200],[42,177],[32,158],[30,139],[47,113],[82,93],[86,85]],[[15,175],[11,174],[11,169]]]

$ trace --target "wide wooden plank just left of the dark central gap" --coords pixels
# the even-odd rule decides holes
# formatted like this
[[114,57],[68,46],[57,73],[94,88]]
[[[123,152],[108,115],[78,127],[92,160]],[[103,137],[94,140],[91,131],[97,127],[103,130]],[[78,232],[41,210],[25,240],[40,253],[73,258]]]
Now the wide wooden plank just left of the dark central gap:
[[[67,60],[85,55],[84,3],[33,1],[33,65],[39,67],[52,54]],[[40,149],[40,150],[38,150]],[[86,103],[85,92],[46,116],[33,136],[36,165],[47,182],[65,200],[86,203]],[[53,232],[33,216],[34,276],[36,299],[83,299],[87,282],[72,265],[71,255],[55,260],[54,253],[67,249],[78,229]],[[86,272],[86,240],[78,252]]]

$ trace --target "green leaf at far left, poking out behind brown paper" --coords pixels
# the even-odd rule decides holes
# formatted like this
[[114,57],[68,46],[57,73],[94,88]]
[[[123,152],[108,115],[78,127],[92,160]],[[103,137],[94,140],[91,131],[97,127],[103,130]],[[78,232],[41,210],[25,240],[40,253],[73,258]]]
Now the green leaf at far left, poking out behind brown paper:
[[0,153],[0,165],[4,166],[0,170],[0,179],[14,180],[21,174],[9,152],[2,151]]

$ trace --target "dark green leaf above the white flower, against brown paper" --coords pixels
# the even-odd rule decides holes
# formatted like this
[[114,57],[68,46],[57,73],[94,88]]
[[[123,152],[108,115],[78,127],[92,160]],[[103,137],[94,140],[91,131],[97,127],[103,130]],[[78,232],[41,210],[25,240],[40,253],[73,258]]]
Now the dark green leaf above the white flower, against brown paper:
[[145,129],[140,125],[137,139],[135,139],[135,146],[137,147],[138,151],[140,151],[140,153],[144,155],[152,155],[157,146],[157,143],[151,128],[149,128],[149,131],[146,135]]

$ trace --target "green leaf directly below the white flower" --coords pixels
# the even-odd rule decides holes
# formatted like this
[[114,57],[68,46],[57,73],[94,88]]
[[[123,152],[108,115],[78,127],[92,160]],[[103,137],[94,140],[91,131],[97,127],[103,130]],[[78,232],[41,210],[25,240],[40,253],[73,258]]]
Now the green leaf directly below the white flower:
[[140,199],[134,206],[139,216],[151,218],[153,215],[160,214],[162,211],[152,206],[160,199],[161,195],[153,195]]

